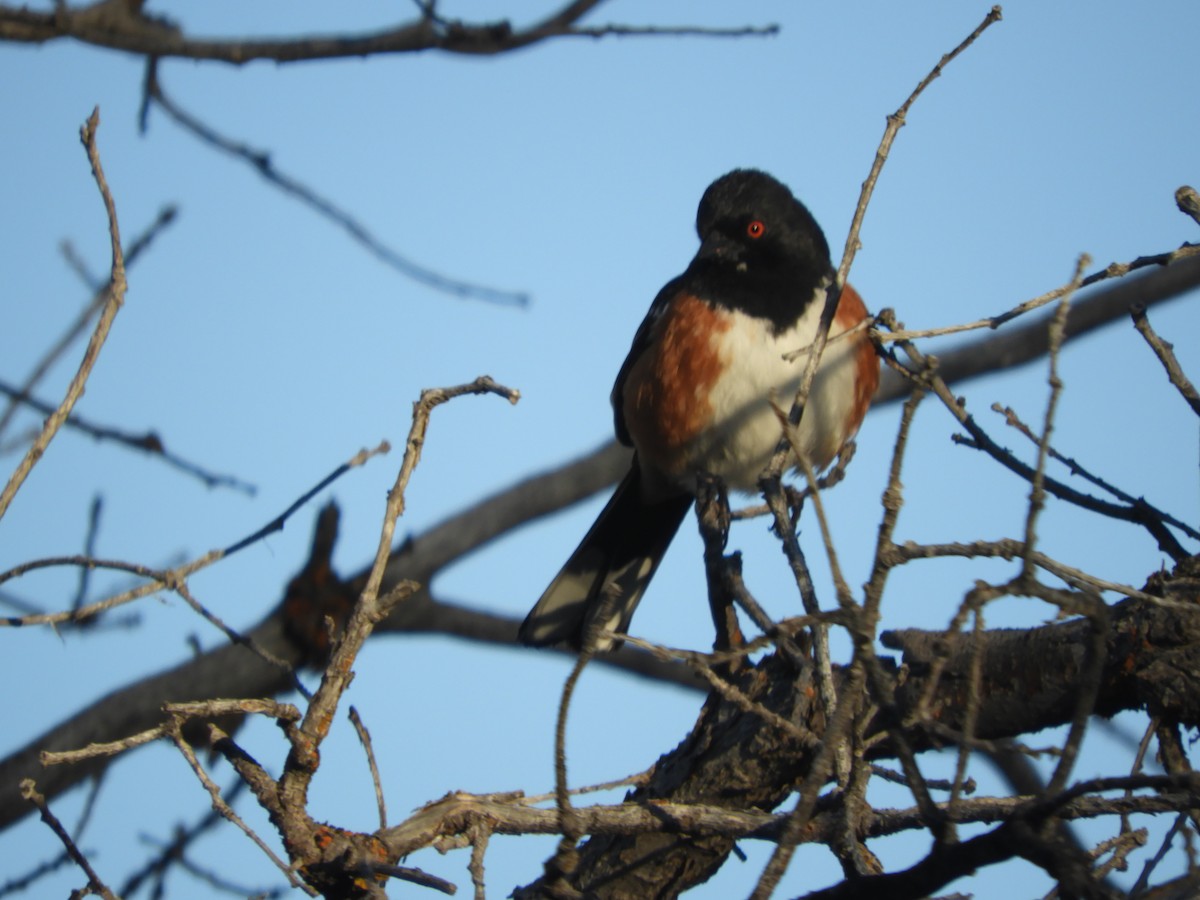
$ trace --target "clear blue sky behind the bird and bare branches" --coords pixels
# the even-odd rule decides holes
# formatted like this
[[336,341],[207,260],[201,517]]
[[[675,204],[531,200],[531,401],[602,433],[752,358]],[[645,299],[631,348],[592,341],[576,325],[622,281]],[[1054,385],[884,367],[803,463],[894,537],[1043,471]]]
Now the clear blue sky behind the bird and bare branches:
[[[395,4],[182,2],[154,5],[197,34],[278,34],[372,28]],[[446,14],[496,18],[496,4],[443,4]],[[504,7],[516,22],[553,2]],[[884,126],[917,82],[986,13],[988,5],[926,2],[611,2],[592,22],[779,23],[778,37],[570,40],[498,59],[421,54],[313,65],[164,62],[164,89],[214,127],[269,150],[276,166],[353,212],[374,234],[434,270],[528,292],[527,308],[462,301],[385,268],[334,226],[214,154],[161,113],[139,134],[142,67],[114,53],[55,43],[0,48],[0,210],[7,328],[0,377],[24,377],[88,296],[62,263],[70,240],[96,274],[107,266],[103,210],[77,131],[100,106],[100,148],[126,239],[166,203],[175,224],[130,272],[125,308],[78,412],[168,445],[258,486],[253,498],[209,491],[152,460],[62,433],[0,521],[0,569],[78,552],[91,498],[104,498],[97,553],[161,565],[224,546],[287,506],[361,446],[400,445],[421,388],[487,373],[522,391],[510,407],[464,398],[434,414],[398,534],[420,533],[515,480],[583,454],[611,433],[608,390],[650,299],[695,247],[696,202],[737,166],[792,186],[840,248]],[[407,13],[403,6],[400,10]],[[1194,41],[1200,6],[1135,7],[1018,0],[1004,20],[956,60],[901,131],[862,233],[851,280],[872,308],[910,326],[996,313],[1063,283],[1079,253],[1096,265],[1196,239],[1172,192],[1200,180]],[[1195,296],[1151,313],[1200,377]],[[930,349],[953,346],[953,340]],[[40,394],[58,398],[79,349]],[[1198,430],[1130,328],[1116,325],[1067,350],[1060,449],[1181,518],[1200,509]],[[986,408],[1000,401],[1039,421],[1045,368],[962,389],[1002,443],[1018,445]],[[898,410],[872,414],[846,484],[828,498],[851,584],[874,547]],[[18,419],[17,431],[36,426]],[[1018,536],[1027,487],[950,444],[949,416],[918,415],[905,469],[899,536]],[[6,436],[7,437],[12,437]],[[0,458],[6,470],[18,456]],[[336,562],[355,571],[373,553],[398,451],[338,481]],[[523,616],[575,546],[602,498],[527,527],[434,583],[448,600]],[[314,504],[282,534],[194,578],[197,596],[236,626],[277,601],[305,558]],[[1051,504],[1046,552],[1114,581],[1140,584],[1163,556],[1144,534]],[[809,556],[820,559],[815,527]],[[798,607],[778,547],[760,521],[733,541],[751,588],[775,614]],[[685,527],[635,623],[643,636],[706,647],[698,540]],[[940,564],[898,572],[884,628],[944,625],[974,578],[1003,565]],[[5,586],[47,608],[64,606],[73,572]],[[95,592],[120,587],[97,576]],[[828,589],[824,599],[830,601]],[[173,598],[137,607],[138,630],[0,635],[20,690],[0,702],[7,751],[65,714],[186,658],[186,640],[220,636]],[[994,625],[1052,617],[1032,601],[990,607]],[[18,676],[17,673],[20,673]],[[348,696],[380,751],[392,818],[449,790],[528,792],[552,781],[552,727],[566,664],[552,654],[450,640],[388,637],[360,658]],[[576,696],[571,779],[590,784],[638,772],[674,746],[698,698],[600,668]],[[1136,721],[1122,724],[1140,737]],[[613,736],[619,736],[614,739]],[[1051,738],[1048,737],[1046,742]],[[251,750],[281,764],[268,728]],[[1128,754],[1127,754],[1128,755]],[[1098,744],[1079,775],[1114,773]],[[947,761],[930,760],[931,772]],[[980,775],[984,773],[979,773]],[[229,780],[222,770],[222,782]],[[134,787],[137,785],[137,787]],[[127,792],[133,791],[132,796]],[[170,803],[143,798],[169,797]],[[118,764],[84,840],[100,871],[120,881],[145,847],[193,820],[206,799],[178,756],[144,750]],[[902,794],[881,794],[902,805]],[[325,751],[314,814],[370,828],[370,779],[348,725]],[[79,798],[55,804],[66,821]],[[1111,824],[1111,823],[1109,823]],[[1111,834],[1102,826],[1096,840]],[[4,836],[8,860],[55,852],[34,821]],[[1152,845],[1153,846],[1153,845]],[[491,890],[529,881],[550,841],[493,841]],[[880,846],[892,865],[920,841]],[[232,829],[198,853],[222,859],[247,884],[276,883],[269,864]],[[748,845],[696,896],[746,893],[767,848]],[[410,864],[469,888],[464,853]],[[0,881],[23,866],[5,866]],[[780,896],[838,877],[822,848],[802,851]],[[997,883],[998,882],[998,883]],[[46,893],[79,883],[58,876]],[[1040,895],[1027,866],[962,890],[978,898]],[[186,887],[179,889],[187,895]],[[401,892],[397,892],[401,893]]]

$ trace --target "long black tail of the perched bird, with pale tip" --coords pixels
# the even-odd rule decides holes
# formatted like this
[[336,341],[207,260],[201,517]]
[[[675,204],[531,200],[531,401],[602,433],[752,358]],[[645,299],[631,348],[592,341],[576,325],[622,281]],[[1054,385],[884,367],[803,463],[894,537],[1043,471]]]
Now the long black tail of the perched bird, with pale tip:
[[566,643],[576,649],[612,649],[616,642],[598,638],[598,632],[629,628],[691,503],[688,494],[646,503],[635,463],[526,617],[521,641],[535,647]]

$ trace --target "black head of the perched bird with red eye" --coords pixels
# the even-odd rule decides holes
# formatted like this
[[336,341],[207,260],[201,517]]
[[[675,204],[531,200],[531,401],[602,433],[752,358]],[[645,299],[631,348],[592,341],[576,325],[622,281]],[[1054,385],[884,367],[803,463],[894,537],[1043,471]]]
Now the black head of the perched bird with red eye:
[[779,329],[793,324],[834,274],[821,226],[764,172],[734,169],[709,185],[696,232],[701,246],[688,268],[696,289]]

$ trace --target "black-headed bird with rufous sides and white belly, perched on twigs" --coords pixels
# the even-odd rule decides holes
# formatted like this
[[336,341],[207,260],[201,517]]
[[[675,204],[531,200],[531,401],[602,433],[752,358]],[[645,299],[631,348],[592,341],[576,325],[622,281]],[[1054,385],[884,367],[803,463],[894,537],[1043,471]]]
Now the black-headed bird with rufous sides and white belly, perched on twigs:
[[[629,473],[521,625],[522,643],[605,652],[634,610],[691,506],[700,479],[754,492],[836,280],[812,214],[774,176],[734,169],[696,211],[700,248],[658,293],[617,373],[617,438]],[[880,362],[862,298],[841,288],[796,434],[814,470],[854,437],[878,386]],[[785,359],[785,355],[790,358]],[[796,458],[788,461],[794,466]]]

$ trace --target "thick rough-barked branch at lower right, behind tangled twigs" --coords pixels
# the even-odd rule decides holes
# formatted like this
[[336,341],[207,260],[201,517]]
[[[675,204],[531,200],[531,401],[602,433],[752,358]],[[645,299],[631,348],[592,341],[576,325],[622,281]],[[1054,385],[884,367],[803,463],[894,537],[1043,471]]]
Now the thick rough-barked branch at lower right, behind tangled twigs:
[[[1177,574],[1182,583],[1190,583],[1189,572],[1195,565],[1192,560]],[[1147,588],[1162,592],[1164,584]],[[983,655],[978,664],[982,682],[972,744],[986,745],[1070,722],[1080,694],[1081,662],[1091,641],[1091,629],[1087,620],[1072,620],[1030,631],[983,632]],[[914,713],[922,695],[934,688],[928,721],[906,727],[906,740],[917,750],[930,750],[961,739],[968,708],[965,695],[974,655],[972,636],[904,631],[886,632],[883,640],[886,646],[904,649],[907,674],[895,694],[901,713]],[[1184,727],[1200,725],[1200,685],[1195,674],[1200,672],[1200,607],[1194,601],[1187,605],[1123,601],[1112,608],[1104,642],[1106,661],[1099,679],[1096,713],[1111,715],[1121,709],[1148,708],[1151,714]],[[931,685],[930,660],[935,653],[944,666],[936,685]],[[823,731],[823,714],[815,702],[811,673],[797,674],[793,664],[781,655],[769,656],[739,672],[736,683],[772,713],[815,733]],[[880,731],[882,721],[877,721],[869,730],[882,738],[869,754],[876,760],[895,752],[893,738]],[[811,745],[797,743],[788,732],[768,724],[763,716],[712,695],[692,733],[659,761],[649,784],[637,788],[628,802],[647,809],[670,802],[767,812],[810,770],[812,756]],[[1198,787],[1188,785],[1188,791]],[[1067,797],[1079,794],[1080,788],[1067,792]],[[1057,815],[1057,806],[1064,799],[1044,800],[1043,804],[1049,805],[1032,809],[1030,815],[1036,814],[1038,821]],[[830,798],[828,803],[834,800]],[[923,827],[931,824],[920,818]],[[598,834],[580,850],[575,887],[589,896],[673,896],[709,877],[733,848],[730,832],[671,832],[624,834],[606,830]],[[1039,853],[1039,845],[1018,847],[1012,844],[1012,834],[992,834],[996,836],[978,845],[979,865]],[[924,893],[911,894],[913,896],[935,889],[931,884],[946,884],[958,877],[956,869],[947,866],[944,860],[938,862],[936,851],[922,865],[911,877],[916,880],[919,874]],[[1063,877],[1076,875],[1068,872]],[[853,881],[847,884],[852,886]],[[882,890],[882,883],[876,887]],[[539,895],[540,882],[518,893],[518,896]],[[893,896],[887,890],[830,894],[882,895]]]

